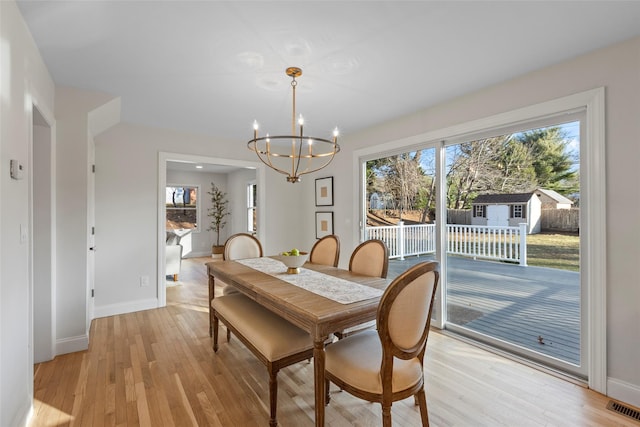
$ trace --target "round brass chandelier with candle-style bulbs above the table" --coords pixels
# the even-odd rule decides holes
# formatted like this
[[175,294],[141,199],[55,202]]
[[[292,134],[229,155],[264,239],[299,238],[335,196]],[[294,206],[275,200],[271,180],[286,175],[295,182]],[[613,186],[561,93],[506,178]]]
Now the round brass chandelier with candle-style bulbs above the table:
[[287,175],[287,182],[300,182],[300,176],[318,171],[333,160],[333,156],[340,151],[338,145],[338,128],[333,131],[331,140],[308,136],[304,134],[304,119],[298,117],[296,133],[296,77],[302,75],[302,70],[289,67],[286,71],[291,77],[293,92],[293,108],[291,114],[291,135],[258,137],[258,122],[253,122],[253,139],[247,142],[247,147],[254,151],[265,165],[281,174]]

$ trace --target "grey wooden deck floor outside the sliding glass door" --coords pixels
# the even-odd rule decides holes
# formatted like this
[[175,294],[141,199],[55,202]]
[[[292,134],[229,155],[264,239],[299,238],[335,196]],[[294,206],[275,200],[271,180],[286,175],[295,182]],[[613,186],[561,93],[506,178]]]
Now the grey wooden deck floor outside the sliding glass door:
[[[393,278],[429,256],[389,261]],[[543,267],[448,258],[449,322],[580,364],[580,275]]]

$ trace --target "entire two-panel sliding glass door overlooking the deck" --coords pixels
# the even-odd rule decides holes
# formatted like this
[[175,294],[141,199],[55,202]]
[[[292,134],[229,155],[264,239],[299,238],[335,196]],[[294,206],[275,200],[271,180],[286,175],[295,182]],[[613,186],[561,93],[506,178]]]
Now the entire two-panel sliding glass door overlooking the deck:
[[364,238],[390,276],[441,263],[434,325],[586,378],[580,268],[584,112],[365,162]]

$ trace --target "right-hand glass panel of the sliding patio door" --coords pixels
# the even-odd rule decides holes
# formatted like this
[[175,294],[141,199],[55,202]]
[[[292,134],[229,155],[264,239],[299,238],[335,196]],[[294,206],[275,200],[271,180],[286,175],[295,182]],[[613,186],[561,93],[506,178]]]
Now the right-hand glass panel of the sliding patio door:
[[443,232],[446,328],[586,377],[579,117],[445,144]]

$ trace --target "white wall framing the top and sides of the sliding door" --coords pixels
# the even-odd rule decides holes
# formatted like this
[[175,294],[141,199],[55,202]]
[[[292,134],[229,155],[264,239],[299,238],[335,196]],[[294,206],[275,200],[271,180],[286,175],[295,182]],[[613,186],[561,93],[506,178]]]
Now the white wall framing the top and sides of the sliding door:
[[[640,406],[640,39],[634,39],[349,135],[330,166],[341,264],[358,238],[354,150],[398,141],[597,87],[606,91],[608,394]],[[310,215],[311,212],[308,213]],[[348,242],[352,239],[352,242]],[[349,244],[350,243],[350,244]]]

